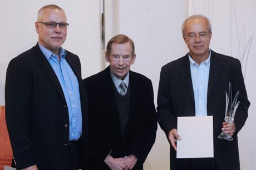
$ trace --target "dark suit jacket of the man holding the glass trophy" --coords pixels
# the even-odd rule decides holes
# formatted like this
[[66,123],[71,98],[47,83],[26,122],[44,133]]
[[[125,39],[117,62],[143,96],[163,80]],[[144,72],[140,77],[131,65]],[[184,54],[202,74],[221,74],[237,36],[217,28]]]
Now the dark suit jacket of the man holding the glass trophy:
[[[229,82],[232,83],[233,97],[237,91],[240,91],[238,97],[240,105],[235,114],[236,132],[233,141],[218,138],[224,122],[225,91],[228,91]],[[250,103],[247,99],[241,64],[238,59],[211,51],[207,96],[208,116],[213,116],[214,161],[219,170],[240,169],[237,133],[242,129],[248,117]],[[171,129],[177,128],[177,117],[195,116],[188,54],[166,64],[161,69],[157,105],[158,121],[166,136]],[[181,170],[182,164],[191,166],[193,163],[191,160],[193,159],[176,159],[176,152],[171,147],[172,170]]]

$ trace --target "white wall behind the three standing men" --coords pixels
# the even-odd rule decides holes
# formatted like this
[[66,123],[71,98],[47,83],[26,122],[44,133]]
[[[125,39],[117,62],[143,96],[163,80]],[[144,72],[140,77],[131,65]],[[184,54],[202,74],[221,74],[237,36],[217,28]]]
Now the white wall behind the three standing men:
[[[100,40],[100,1],[0,0],[1,105],[4,105],[7,64],[13,57],[36,44],[37,11],[48,3],[60,5],[67,14],[70,27],[63,47],[80,56],[82,77],[86,78],[102,69],[104,56],[101,52]],[[252,104],[249,108],[248,120],[239,133],[242,170],[256,169],[255,5],[254,0],[105,1],[106,42],[119,33],[127,34],[134,40],[137,58],[131,69],[151,79],[155,101],[161,67],[188,52],[181,37],[181,23],[194,13],[205,14],[210,18],[213,25],[210,48],[242,61],[248,97]],[[246,48],[248,43],[250,48]],[[243,52],[245,52],[244,59],[242,59]],[[157,130],[156,143],[146,160],[144,169],[169,169],[169,143],[160,128]]]

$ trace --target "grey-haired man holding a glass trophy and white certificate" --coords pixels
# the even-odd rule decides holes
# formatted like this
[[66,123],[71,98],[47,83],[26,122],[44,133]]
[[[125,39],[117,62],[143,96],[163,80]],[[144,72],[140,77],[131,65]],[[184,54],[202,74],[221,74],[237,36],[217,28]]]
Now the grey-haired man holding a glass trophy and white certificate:
[[[158,122],[171,144],[171,170],[238,170],[237,134],[244,126],[250,105],[241,64],[238,59],[209,49],[211,24],[208,18],[188,17],[182,25],[182,33],[189,53],[162,67],[157,96]],[[227,124],[224,122],[225,91],[229,82],[234,93],[240,91],[240,104],[235,121]],[[214,158],[176,158],[176,140],[182,140],[177,130],[177,117],[184,116],[213,116]],[[221,131],[230,134],[233,141],[219,139]]]

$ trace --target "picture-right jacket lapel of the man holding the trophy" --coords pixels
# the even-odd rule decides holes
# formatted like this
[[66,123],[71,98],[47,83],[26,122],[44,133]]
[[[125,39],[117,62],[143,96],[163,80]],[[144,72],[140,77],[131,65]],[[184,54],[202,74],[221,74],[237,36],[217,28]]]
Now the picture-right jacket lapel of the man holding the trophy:
[[207,99],[209,99],[211,90],[213,89],[214,83],[220,72],[221,62],[219,61],[220,57],[214,51],[211,51]]

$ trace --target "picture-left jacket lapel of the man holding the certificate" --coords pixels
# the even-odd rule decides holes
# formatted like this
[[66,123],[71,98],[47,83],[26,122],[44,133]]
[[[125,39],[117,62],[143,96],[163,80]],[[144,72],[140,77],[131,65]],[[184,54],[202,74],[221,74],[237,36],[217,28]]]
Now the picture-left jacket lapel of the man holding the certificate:
[[184,56],[180,62],[179,74],[184,83],[186,91],[188,92],[189,98],[191,99],[193,104],[195,104],[188,54],[186,54],[186,56]]

